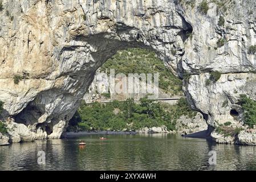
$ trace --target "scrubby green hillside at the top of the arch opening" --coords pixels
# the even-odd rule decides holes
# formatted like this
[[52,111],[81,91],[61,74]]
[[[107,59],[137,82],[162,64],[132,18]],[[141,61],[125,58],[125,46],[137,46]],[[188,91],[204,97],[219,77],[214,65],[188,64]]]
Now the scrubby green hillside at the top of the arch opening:
[[148,49],[129,48],[117,51],[100,68],[109,74],[110,69],[115,69],[115,74],[124,73],[159,73],[159,88],[166,93],[182,95],[182,80],[177,78],[165,67],[164,63],[156,56],[155,52]]

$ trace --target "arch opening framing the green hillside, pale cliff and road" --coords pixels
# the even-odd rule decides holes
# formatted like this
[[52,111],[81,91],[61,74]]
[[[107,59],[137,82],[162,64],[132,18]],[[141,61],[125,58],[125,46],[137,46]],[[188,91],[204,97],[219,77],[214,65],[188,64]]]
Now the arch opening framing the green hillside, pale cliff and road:
[[[162,92],[159,98],[167,99],[158,104],[159,100],[145,99],[145,94],[140,96],[128,93],[110,94],[107,88],[108,83],[107,86],[103,86],[108,82],[108,78],[105,79],[103,74],[108,76],[110,69],[115,69],[115,75],[124,73],[125,76],[129,73],[160,72],[159,89]],[[118,81],[115,80],[115,82]],[[169,101],[170,97],[183,97],[182,80],[172,74],[152,49],[145,47],[119,49],[97,70],[95,79],[83,98],[84,101],[69,121],[67,131],[137,131],[143,127],[162,126],[166,127],[163,129],[166,131],[175,130],[177,115],[188,114],[193,119],[197,112],[189,108],[184,98],[181,101],[179,98]],[[199,125],[200,123],[195,124],[194,127],[198,129]]]

